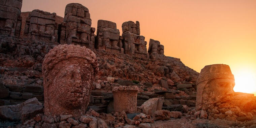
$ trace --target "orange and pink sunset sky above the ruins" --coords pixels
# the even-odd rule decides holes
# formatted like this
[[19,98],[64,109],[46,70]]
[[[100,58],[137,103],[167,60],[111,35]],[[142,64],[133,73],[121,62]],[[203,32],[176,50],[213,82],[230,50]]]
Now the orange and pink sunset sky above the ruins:
[[[22,11],[64,17],[68,3],[86,6],[95,28],[98,20],[108,20],[122,34],[123,22],[139,21],[148,44],[159,40],[166,56],[197,72],[227,64],[235,77],[256,79],[256,0],[23,0]],[[256,83],[251,86],[256,90]]]

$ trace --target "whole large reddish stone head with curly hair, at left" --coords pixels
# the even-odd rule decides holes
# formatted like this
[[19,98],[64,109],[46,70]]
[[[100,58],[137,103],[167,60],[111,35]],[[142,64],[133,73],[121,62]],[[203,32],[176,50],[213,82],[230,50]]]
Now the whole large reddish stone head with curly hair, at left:
[[97,72],[96,55],[84,46],[64,44],[50,50],[42,65],[44,114],[85,114]]

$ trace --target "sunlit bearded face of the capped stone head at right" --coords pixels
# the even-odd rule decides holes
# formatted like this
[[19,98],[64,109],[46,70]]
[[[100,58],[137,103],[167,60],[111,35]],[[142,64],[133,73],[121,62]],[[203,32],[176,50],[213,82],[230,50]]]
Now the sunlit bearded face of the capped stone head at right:
[[203,89],[202,103],[218,103],[230,101],[234,95],[234,79],[212,79]]

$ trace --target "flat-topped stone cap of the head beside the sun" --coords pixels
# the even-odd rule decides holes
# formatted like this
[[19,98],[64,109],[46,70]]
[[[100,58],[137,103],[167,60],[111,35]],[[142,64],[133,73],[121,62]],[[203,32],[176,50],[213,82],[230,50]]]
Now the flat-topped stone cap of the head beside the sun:
[[196,84],[215,78],[230,78],[234,79],[230,67],[226,64],[206,65],[197,78]]

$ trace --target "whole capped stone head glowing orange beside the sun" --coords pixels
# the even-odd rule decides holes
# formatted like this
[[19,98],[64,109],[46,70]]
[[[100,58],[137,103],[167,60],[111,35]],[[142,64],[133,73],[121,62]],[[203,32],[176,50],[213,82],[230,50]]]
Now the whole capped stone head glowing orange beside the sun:
[[228,65],[213,64],[205,66],[196,82],[196,109],[202,105],[228,102],[234,95],[234,75]]

